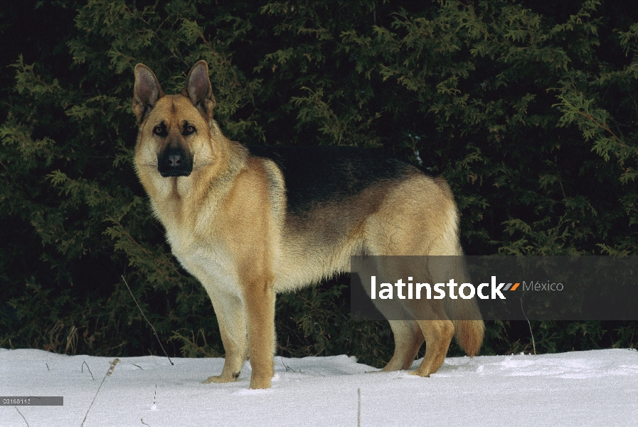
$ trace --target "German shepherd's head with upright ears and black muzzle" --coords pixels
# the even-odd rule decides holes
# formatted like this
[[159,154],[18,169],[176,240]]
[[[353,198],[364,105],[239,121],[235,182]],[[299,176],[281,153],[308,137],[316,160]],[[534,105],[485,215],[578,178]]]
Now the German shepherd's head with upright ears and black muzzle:
[[[180,95],[164,95],[146,65],[135,67],[133,112],[139,125],[137,167],[154,167],[163,177],[189,176],[206,164],[215,97],[208,65],[199,61]],[[197,162],[199,160],[199,162]]]

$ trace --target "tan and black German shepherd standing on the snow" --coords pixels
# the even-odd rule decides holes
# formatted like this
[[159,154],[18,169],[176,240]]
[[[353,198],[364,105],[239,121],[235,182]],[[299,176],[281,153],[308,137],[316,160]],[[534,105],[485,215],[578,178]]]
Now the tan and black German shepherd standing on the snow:
[[[269,388],[275,294],[348,272],[351,255],[462,255],[444,180],[363,149],[248,148],[224,137],[214,107],[205,61],[179,95],[135,67],[137,174],[172,252],[218,317],[225,362],[204,382],[235,381],[250,357],[250,389]],[[479,351],[484,324],[473,300],[420,304],[435,315],[390,321],[395,350],[383,371],[408,369],[424,340],[411,372],[419,376],[439,369],[452,336],[469,356]]]

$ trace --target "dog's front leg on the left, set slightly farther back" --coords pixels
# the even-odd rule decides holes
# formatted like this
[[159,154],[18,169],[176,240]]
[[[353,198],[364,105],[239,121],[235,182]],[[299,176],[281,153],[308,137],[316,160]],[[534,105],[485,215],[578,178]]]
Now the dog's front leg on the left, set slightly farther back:
[[209,292],[209,295],[217,315],[225,359],[221,374],[209,376],[203,382],[208,384],[235,381],[248,357],[244,304],[237,295],[221,295],[216,292]]

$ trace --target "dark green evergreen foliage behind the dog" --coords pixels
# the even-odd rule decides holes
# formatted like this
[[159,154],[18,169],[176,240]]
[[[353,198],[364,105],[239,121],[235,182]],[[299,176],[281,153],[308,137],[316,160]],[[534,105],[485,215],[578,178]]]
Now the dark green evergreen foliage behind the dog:
[[[632,6],[7,2],[0,346],[161,354],[124,275],[174,354],[223,353],[210,300],[171,255],[133,171],[137,63],[174,93],[208,61],[231,139],[382,147],[444,176],[470,255],[637,255]],[[386,323],[349,319],[348,281],[280,295],[280,354],[389,359]],[[635,347],[637,325],[532,323],[543,352]],[[489,323],[483,354],[530,349],[526,323]]]

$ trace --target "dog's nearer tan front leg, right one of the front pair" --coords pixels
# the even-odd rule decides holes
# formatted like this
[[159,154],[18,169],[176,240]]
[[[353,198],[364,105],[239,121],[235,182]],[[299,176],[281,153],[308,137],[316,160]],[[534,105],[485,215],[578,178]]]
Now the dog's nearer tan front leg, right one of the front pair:
[[272,280],[251,280],[245,288],[251,389],[269,389],[275,354],[275,290]]

